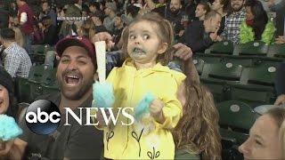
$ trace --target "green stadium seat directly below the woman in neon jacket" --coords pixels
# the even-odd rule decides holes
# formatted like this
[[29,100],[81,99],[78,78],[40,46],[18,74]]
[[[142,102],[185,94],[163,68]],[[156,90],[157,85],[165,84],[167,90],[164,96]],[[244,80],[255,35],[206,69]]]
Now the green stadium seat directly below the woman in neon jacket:
[[237,52],[239,55],[266,56],[268,45],[262,41],[252,41],[246,44],[239,44],[237,46]]

